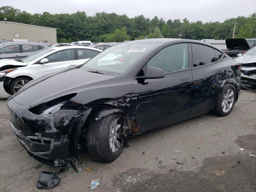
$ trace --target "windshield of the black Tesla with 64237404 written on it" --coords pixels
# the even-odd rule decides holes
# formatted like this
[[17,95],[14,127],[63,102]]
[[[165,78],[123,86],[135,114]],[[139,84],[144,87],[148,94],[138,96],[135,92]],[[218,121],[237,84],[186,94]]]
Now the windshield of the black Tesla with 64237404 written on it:
[[156,46],[159,44],[153,42],[121,43],[104,50],[86,62],[81,69],[118,76]]

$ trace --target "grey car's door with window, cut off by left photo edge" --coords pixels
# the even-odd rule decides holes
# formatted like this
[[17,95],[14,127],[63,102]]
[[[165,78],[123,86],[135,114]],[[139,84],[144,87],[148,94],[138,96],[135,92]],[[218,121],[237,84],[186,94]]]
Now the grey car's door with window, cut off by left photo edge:
[[0,48],[0,59],[21,59],[21,47],[19,42]]

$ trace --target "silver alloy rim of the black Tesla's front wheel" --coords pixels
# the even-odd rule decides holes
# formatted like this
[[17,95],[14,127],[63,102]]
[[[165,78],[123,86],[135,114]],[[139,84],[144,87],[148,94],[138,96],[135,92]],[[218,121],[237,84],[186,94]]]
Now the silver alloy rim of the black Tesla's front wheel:
[[121,143],[118,141],[118,134],[120,130],[120,118],[115,118],[110,124],[110,133],[109,133],[109,145],[112,152],[117,152],[121,146]]

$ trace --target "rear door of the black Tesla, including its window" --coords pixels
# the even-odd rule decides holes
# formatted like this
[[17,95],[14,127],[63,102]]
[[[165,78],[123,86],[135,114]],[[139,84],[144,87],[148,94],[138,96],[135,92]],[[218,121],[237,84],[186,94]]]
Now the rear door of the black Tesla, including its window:
[[191,46],[193,88],[189,116],[195,116],[214,108],[219,86],[226,78],[226,67],[219,62],[222,52],[202,44],[191,43]]

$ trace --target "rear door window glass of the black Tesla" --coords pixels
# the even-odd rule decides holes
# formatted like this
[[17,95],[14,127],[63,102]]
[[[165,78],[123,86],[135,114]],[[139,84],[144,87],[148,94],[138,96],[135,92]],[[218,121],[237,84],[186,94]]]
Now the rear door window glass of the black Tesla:
[[201,45],[191,44],[193,53],[193,67],[209,64],[216,61],[214,48]]

